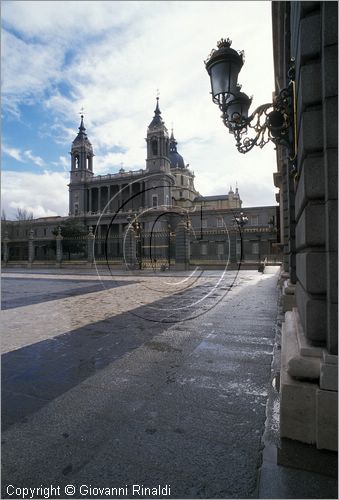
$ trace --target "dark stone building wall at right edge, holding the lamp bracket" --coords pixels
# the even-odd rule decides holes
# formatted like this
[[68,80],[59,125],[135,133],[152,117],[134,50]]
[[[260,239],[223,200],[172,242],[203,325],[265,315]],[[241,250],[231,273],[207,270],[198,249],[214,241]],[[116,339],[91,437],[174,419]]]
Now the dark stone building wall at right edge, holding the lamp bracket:
[[281,436],[337,450],[338,5],[272,2],[276,92],[295,65],[293,160],[278,147],[285,272]]

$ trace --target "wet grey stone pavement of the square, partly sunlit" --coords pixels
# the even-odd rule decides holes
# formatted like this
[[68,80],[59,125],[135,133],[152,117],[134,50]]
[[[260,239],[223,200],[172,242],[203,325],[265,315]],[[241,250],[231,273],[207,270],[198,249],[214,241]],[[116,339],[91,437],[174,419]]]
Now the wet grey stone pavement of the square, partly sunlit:
[[2,498],[257,497],[276,282],[4,273]]

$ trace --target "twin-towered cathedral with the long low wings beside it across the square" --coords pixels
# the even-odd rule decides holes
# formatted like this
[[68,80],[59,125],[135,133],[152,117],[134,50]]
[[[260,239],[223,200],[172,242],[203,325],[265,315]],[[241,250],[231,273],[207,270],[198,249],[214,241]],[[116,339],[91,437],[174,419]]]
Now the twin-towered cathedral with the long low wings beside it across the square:
[[[146,254],[152,246],[147,239],[159,238],[158,259],[161,255],[165,260],[175,258],[170,239],[175,239],[177,226],[182,222],[190,227],[190,255],[194,261],[217,265],[227,260],[229,252],[233,262],[241,256],[254,263],[266,257],[279,260],[277,207],[243,208],[238,187],[235,192],[230,188],[228,194],[201,196],[194,186],[194,172],[178,152],[173,130],[169,135],[162,119],[159,98],[147,128],[146,145],[144,169],[121,168],[117,173],[95,175],[94,149],[81,116],[70,152],[69,216],[34,219],[26,224],[7,222],[4,240],[7,260],[28,258],[28,238],[31,251],[34,248],[32,262],[53,258],[55,243],[49,245],[48,240],[55,237],[58,226],[70,219],[82,225],[90,238],[93,230],[95,258],[99,260],[107,257],[107,238],[112,240],[108,257],[113,260],[123,257],[123,239],[131,221],[136,236],[142,239],[140,254]],[[240,212],[247,217],[248,224],[239,240],[235,219]],[[243,245],[245,253],[239,245]]]

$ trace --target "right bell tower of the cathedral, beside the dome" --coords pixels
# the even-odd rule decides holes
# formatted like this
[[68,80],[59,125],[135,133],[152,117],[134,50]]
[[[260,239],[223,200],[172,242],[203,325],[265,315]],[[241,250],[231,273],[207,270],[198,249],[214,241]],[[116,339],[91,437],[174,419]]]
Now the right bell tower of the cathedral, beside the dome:
[[146,169],[148,172],[169,173],[171,164],[169,160],[169,137],[168,130],[161,118],[159,109],[159,97],[154,111],[154,117],[147,129],[147,159]]

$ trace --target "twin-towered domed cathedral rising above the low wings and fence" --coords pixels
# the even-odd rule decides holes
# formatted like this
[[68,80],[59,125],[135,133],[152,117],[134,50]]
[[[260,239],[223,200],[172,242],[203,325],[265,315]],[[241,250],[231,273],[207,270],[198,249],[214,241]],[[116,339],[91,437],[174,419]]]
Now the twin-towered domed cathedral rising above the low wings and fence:
[[[154,116],[147,128],[145,169],[107,175],[94,175],[93,146],[88,139],[81,116],[79,133],[72,143],[69,184],[69,215],[82,219],[85,225],[105,225],[111,214],[117,214],[112,232],[119,232],[130,212],[144,213],[152,219],[157,211],[194,213],[201,206],[207,209],[240,209],[236,188],[228,195],[201,196],[194,187],[194,172],[178,153],[173,130],[169,136],[162,119],[157,97]],[[170,217],[170,215],[169,215]],[[169,218],[162,218],[162,225]],[[147,225],[147,221],[145,221]],[[121,228],[120,228],[121,229]]]

